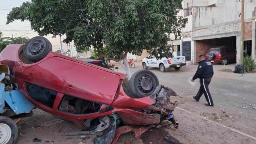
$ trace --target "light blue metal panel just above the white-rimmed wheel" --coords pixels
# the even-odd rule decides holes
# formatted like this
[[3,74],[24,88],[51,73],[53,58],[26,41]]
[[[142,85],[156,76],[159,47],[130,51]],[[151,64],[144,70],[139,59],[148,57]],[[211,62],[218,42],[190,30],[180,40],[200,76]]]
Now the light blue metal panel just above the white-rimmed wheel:
[[20,113],[30,113],[35,108],[18,90],[4,91],[4,99],[10,108],[17,115]]

